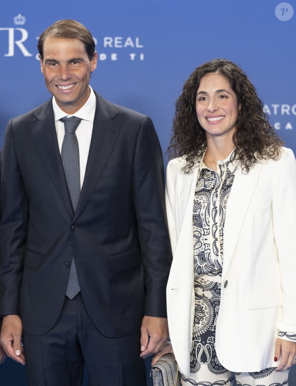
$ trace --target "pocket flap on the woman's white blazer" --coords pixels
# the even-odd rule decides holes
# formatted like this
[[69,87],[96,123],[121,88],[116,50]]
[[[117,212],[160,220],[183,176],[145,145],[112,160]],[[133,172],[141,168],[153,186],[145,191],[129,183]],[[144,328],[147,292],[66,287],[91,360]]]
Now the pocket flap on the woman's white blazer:
[[249,309],[281,307],[283,304],[283,292],[281,288],[248,292],[247,302]]

